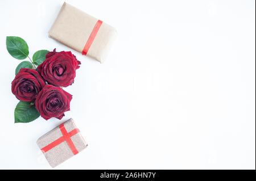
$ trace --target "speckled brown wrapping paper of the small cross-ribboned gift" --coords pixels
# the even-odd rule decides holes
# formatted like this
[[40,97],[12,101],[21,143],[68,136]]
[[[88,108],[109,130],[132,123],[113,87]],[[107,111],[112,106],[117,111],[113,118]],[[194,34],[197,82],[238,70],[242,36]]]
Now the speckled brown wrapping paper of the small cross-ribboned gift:
[[[64,127],[67,130],[67,132],[71,132],[73,129],[77,128],[73,119],[69,119],[65,121]],[[62,136],[63,134],[61,133],[60,128],[58,126],[52,129],[51,131],[49,131],[48,133],[44,134],[42,137],[40,137],[36,143],[38,144],[39,148],[42,149]],[[72,136],[71,140],[75,145],[77,151],[79,152],[85,149],[87,146],[80,132]],[[44,156],[49,162],[49,165],[51,165],[52,167],[59,165],[60,163],[71,158],[73,155],[74,154],[72,153],[72,150],[69,148],[67,141],[61,142],[61,144],[53,147],[52,149],[44,153]]]

